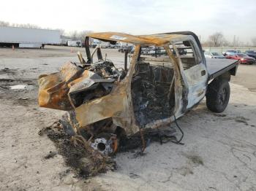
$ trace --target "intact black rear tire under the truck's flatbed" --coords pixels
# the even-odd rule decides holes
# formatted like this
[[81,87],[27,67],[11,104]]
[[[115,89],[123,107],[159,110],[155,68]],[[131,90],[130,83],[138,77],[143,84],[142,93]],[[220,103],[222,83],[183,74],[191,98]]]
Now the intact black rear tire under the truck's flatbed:
[[230,85],[225,79],[214,79],[208,85],[206,105],[211,112],[223,112],[230,100]]

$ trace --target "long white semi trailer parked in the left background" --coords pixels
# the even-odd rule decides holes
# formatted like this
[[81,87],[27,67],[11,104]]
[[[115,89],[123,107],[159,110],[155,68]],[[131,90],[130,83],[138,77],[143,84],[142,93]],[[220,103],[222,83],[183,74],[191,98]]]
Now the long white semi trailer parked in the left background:
[[45,44],[60,44],[61,35],[57,30],[0,27],[0,46],[44,47]]

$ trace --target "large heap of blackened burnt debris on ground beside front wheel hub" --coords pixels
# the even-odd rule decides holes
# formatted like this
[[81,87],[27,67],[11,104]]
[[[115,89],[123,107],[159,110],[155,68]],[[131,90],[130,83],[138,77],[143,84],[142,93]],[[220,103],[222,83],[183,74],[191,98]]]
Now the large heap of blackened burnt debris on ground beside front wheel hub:
[[88,178],[116,168],[116,163],[111,157],[91,152],[91,149],[84,147],[83,144],[75,145],[71,136],[64,133],[59,122],[39,130],[39,136],[43,134],[53,141],[58,154],[64,157],[65,163],[80,177]]

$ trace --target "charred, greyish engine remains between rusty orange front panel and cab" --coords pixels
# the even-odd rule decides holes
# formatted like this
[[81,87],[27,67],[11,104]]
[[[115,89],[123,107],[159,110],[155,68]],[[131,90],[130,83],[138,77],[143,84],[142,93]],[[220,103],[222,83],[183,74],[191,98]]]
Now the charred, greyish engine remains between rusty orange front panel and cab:
[[119,82],[126,75],[123,69],[116,69],[111,61],[98,61],[85,67],[84,71],[81,79],[78,78],[79,82],[75,80],[70,84],[69,100],[75,107],[108,95],[114,86],[113,82]]

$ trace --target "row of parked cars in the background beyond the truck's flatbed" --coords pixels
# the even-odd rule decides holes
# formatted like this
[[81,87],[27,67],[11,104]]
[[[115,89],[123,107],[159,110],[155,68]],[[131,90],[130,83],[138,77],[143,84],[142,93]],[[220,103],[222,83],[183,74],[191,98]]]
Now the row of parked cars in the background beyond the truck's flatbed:
[[246,50],[241,53],[240,50],[227,50],[226,52],[208,52],[205,51],[204,55],[206,58],[227,58],[238,60],[240,63],[253,64],[256,63],[256,52],[254,50]]

